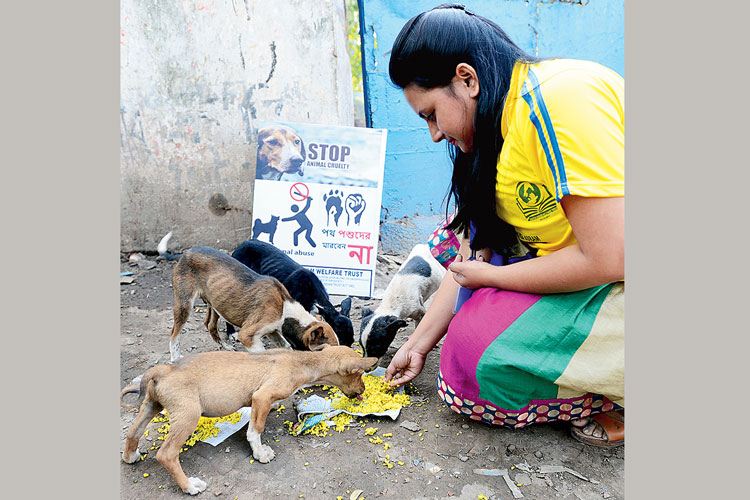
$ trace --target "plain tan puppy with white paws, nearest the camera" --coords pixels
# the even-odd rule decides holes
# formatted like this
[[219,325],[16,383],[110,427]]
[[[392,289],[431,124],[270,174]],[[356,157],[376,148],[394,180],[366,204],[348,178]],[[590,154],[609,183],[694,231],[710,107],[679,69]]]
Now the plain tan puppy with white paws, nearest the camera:
[[253,457],[270,462],[275,454],[261,443],[266,417],[275,401],[286,399],[307,385],[335,385],[348,397],[365,391],[364,370],[377,358],[362,358],[350,347],[326,346],[316,352],[271,349],[262,353],[213,351],[180,359],[174,364],[149,368],[140,385],[131,385],[122,398],[138,392],[140,411],[128,429],[122,459],[133,463],[141,457],[138,440],[162,408],[169,413],[169,433],[156,459],[172,474],[185,493],[196,495],[206,483],[188,478],[180,466],[180,448],[201,416],[221,417],[251,406],[247,440]]

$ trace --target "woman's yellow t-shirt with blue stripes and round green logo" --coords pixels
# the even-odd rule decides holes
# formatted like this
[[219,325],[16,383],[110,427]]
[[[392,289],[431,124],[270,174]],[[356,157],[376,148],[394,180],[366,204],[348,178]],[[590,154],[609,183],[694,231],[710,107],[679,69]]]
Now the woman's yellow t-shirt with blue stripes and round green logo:
[[516,63],[503,108],[496,210],[537,255],[576,243],[564,196],[624,196],[624,104],[623,78],[597,63]]

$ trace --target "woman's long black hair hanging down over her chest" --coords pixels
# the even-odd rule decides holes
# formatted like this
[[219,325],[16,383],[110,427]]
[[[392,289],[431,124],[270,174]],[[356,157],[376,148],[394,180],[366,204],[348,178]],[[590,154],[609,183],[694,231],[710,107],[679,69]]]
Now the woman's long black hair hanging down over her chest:
[[497,24],[455,3],[411,18],[393,43],[388,73],[402,89],[411,84],[426,90],[449,86],[459,63],[469,64],[477,72],[480,90],[473,147],[464,153],[448,145],[453,176],[447,194],[457,208],[448,228],[467,235],[473,222],[474,249],[487,247],[507,254],[516,243],[515,231],[495,209],[497,159],[503,147],[500,123],[513,65],[538,60],[513,43]]

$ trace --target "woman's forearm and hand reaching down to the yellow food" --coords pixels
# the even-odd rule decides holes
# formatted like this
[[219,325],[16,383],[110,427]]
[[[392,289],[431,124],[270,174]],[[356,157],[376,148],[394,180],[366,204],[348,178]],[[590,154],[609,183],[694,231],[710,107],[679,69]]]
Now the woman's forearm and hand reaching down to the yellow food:
[[[461,242],[459,255],[467,257],[469,254],[468,241]],[[427,353],[440,342],[448,331],[448,325],[453,319],[453,303],[456,300],[458,285],[452,273],[445,273],[442,283],[430,308],[422,321],[393,356],[393,360],[385,372],[385,381],[393,378],[391,385],[403,385],[419,375],[424,366]],[[394,378],[395,377],[395,378]]]

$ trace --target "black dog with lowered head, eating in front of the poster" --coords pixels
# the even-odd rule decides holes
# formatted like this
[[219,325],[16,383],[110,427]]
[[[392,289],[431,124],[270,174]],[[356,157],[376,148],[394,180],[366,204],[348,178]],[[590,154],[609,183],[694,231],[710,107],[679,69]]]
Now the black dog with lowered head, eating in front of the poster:
[[[314,272],[264,241],[247,240],[232,252],[232,257],[258,274],[273,276],[281,281],[289,295],[302,304],[306,311],[320,314],[331,325],[341,345],[351,345],[354,342],[354,328],[349,319],[351,297],[345,298],[337,310]],[[227,324],[227,334],[233,331],[231,325]]]

